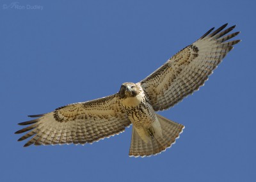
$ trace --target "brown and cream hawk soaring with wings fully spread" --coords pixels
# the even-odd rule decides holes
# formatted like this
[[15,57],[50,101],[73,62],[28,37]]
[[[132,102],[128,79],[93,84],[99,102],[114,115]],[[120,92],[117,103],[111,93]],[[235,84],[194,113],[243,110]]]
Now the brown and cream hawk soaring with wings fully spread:
[[198,90],[240,40],[230,40],[240,32],[228,34],[235,26],[227,24],[180,50],[175,56],[138,83],[125,82],[114,95],[59,107],[19,123],[29,125],[24,133],[25,147],[34,144],[86,144],[124,132],[132,126],[129,156],[150,156],[175,143],[183,125],[160,116],[165,110]]

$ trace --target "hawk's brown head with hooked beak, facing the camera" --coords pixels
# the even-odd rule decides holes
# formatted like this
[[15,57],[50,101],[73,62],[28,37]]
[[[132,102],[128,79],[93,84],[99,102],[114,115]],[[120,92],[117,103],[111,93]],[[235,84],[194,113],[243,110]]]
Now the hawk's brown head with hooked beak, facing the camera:
[[120,98],[134,97],[140,93],[140,88],[134,83],[126,82],[122,84],[118,93]]

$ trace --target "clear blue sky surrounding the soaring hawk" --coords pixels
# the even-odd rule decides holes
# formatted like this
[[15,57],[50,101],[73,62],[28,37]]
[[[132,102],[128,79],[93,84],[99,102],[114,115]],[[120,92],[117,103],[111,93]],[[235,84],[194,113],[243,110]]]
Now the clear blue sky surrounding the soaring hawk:
[[[0,1],[0,181],[255,180],[255,2]],[[161,112],[186,126],[161,155],[129,158],[131,128],[85,146],[17,142],[27,115],[116,93],[227,22],[243,41]]]

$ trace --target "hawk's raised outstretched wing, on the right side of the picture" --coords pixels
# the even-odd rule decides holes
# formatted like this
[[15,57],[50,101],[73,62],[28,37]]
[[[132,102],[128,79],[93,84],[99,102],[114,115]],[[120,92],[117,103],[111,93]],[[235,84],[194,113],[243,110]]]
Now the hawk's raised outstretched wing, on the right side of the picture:
[[154,110],[168,109],[204,85],[212,71],[233,48],[232,45],[240,42],[225,42],[239,34],[225,35],[235,27],[222,31],[226,26],[221,26],[213,33],[211,31],[214,28],[210,29],[140,82]]

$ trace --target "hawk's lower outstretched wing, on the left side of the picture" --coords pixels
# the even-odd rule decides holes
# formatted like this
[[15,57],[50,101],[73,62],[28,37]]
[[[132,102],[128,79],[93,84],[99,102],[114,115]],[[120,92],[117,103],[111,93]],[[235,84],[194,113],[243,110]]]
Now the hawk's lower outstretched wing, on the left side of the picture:
[[48,144],[86,144],[118,134],[131,125],[117,94],[60,107],[32,121],[16,133],[26,133],[19,141],[32,137],[24,146]]

